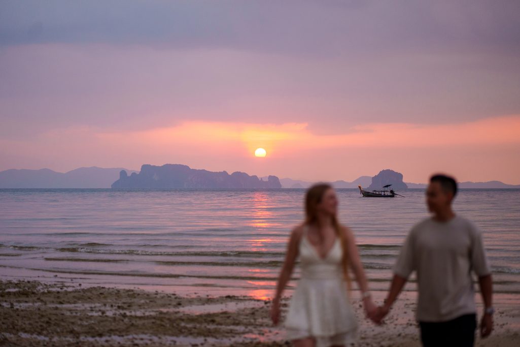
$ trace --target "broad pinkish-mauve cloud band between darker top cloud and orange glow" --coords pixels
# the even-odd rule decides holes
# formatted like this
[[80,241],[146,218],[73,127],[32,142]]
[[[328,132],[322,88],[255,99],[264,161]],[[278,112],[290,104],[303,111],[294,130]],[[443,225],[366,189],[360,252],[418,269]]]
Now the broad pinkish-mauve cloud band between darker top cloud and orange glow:
[[0,54],[0,136],[187,120],[443,123],[520,109],[517,58],[395,54],[314,60],[224,49],[40,44]]

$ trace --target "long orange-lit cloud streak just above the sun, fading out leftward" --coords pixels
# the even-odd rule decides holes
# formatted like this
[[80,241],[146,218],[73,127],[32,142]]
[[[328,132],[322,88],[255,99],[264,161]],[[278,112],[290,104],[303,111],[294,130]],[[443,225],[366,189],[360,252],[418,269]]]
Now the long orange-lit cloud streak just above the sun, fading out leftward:
[[[367,123],[346,133],[314,133],[307,123],[241,123],[187,121],[177,126],[142,131],[107,132],[87,127],[42,134],[40,141],[63,145],[89,142],[105,148],[132,152],[199,151],[249,157],[258,147],[270,155],[295,156],[302,151],[342,148],[449,148],[520,145],[520,116],[493,117],[472,122],[424,125],[413,123]],[[83,143],[85,144],[85,143]]]

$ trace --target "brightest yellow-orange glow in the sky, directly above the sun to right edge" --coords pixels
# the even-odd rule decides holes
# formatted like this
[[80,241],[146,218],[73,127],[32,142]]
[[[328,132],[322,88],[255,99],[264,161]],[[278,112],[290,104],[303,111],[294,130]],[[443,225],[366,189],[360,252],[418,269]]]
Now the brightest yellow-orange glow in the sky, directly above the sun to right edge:
[[[61,130],[60,130],[61,131]],[[197,135],[197,136],[195,136]],[[438,138],[443,141],[439,143]],[[284,153],[327,147],[417,147],[473,144],[520,144],[520,116],[504,116],[454,124],[366,123],[345,129],[342,134],[318,135],[307,123],[263,125],[223,122],[185,122],[175,127],[138,132],[96,133],[103,142],[175,145],[196,148],[245,146],[254,152],[283,144]],[[259,145],[262,144],[262,147]]]

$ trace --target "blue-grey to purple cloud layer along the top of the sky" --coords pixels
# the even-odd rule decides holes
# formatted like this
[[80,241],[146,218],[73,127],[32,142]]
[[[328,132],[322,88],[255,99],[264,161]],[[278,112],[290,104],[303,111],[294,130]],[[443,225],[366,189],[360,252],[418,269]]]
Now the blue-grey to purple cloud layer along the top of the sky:
[[308,56],[428,47],[515,52],[514,1],[4,1],[0,45],[103,43]]

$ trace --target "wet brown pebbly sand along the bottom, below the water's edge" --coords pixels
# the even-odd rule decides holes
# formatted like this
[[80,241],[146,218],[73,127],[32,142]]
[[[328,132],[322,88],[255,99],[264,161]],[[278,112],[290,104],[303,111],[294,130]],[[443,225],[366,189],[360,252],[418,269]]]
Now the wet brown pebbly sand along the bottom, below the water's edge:
[[[375,292],[381,301],[384,293]],[[387,324],[363,318],[356,346],[419,346],[414,293],[403,293]],[[518,294],[495,296],[495,331],[477,346],[520,345]],[[283,306],[287,307],[285,298]],[[268,300],[179,296],[77,283],[0,281],[0,346],[285,346]],[[480,307],[479,307],[480,310]],[[479,311],[480,312],[480,311]]]

